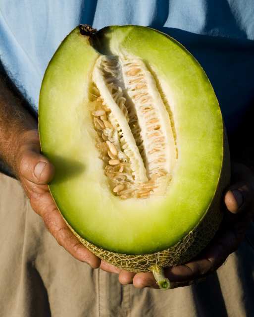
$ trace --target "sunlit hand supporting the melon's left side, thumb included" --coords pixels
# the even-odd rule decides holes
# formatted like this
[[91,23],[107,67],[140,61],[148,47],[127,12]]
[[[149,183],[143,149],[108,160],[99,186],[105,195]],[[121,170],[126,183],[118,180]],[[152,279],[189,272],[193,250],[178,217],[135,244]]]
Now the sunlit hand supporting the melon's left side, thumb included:
[[74,258],[90,264],[93,268],[118,273],[120,270],[113,265],[101,262],[74,236],[67,227],[56,208],[49,192],[48,183],[54,175],[54,167],[47,158],[40,154],[40,142],[37,130],[29,130],[22,138],[16,158],[16,174],[19,178],[33,210],[44,220],[47,228],[58,244]]

